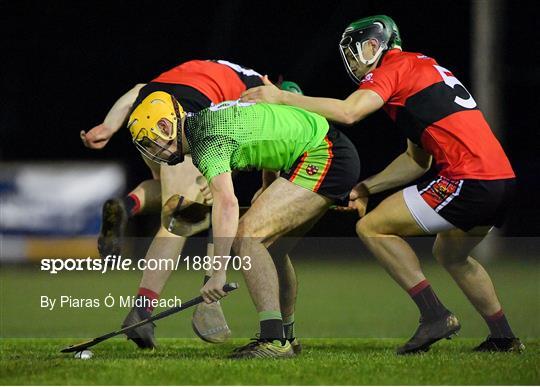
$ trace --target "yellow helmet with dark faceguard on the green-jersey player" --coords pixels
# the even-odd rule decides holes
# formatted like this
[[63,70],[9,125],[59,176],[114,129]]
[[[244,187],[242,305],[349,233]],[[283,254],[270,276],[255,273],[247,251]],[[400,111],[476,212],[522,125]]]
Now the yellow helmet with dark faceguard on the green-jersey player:
[[[128,129],[143,156],[168,165],[184,161],[178,128],[186,116],[176,98],[163,91],[149,94],[129,116]],[[175,150],[169,150],[174,147]]]

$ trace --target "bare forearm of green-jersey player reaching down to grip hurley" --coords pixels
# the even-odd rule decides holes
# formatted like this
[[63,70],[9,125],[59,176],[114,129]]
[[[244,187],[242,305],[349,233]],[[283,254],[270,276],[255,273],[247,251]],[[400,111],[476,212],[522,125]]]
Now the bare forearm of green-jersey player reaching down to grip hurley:
[[214,198],[212,223],[214,228],[214,259],[216,264],[212,278],[201,289],[207,303],[225,297],[223,286],[226,281],[226,256],[230,255],[232,242],[238,230],[239,206],[234,194],[230,172],[222,173],[212,179],[210,190]]

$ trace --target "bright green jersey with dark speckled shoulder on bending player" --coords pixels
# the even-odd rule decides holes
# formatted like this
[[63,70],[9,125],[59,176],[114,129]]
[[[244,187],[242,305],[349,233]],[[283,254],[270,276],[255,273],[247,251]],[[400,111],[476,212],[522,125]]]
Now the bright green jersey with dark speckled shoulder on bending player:
[[236,169],[288,171],[323,143],[328,121],[285,105],[226,101],[189,114],[186,138],[193,164],[208,181]]

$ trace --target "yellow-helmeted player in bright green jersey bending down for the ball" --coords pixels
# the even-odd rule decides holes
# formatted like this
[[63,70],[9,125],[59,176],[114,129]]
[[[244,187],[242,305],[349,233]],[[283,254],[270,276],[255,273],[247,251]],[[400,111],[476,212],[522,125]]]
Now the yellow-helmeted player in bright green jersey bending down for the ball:
[[[152,117],[145,109],[160,104],[166,114]],[[353,144],[325,118],[303,109],[228,101],[191,114],[162,92],[141,103],[128,127],[146,157],[178,164],[189,153],[208,180],[215,256],[214,273],[201,289],[205,301],[225,296],[232,248],[239,257],[250,257],[242,269],[259,313],[260,337],[233,356],[293,356],[283,332],[278,280],[283,273],[268,248],[309,228],[332,204],[347,201],[360,174]],[[263,187],[239,220],[231,173],[241,169],[262,170]]]

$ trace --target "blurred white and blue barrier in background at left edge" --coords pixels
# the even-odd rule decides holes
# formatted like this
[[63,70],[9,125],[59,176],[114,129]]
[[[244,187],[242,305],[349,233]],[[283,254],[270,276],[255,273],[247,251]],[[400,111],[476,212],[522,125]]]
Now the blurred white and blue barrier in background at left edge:
[[95,240],[103,202],[125,179],[116,163],[0,163],[1,260],[27,258],[36,241]]

